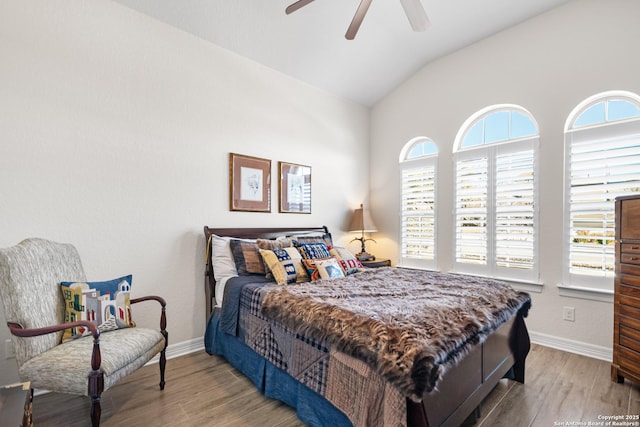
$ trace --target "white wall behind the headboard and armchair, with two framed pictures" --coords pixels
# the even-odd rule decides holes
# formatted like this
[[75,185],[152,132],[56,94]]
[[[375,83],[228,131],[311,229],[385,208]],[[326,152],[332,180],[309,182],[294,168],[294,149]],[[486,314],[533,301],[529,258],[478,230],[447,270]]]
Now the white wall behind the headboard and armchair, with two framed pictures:
[[[205,224],[339,239],[367,195],[368,109],[111,1],[0,2],[0,58],[0,247],[46,237],[91,280],[132,273],[166,298],[170,344],[204,332]],[[229,152],[272,160],[272,213],[229,211]],[[312,167],[311,215],[277,213],[278,160]]]

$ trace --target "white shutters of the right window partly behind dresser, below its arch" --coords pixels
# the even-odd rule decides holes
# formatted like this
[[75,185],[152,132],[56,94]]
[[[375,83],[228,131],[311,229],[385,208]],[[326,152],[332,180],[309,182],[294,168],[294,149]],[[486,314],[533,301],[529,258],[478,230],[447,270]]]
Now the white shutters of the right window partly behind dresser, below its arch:
[[[569,131],[569,282],[610,289],[617,196],[640,192],[640,123]],[[599,279],[598,279],[599,278]]]

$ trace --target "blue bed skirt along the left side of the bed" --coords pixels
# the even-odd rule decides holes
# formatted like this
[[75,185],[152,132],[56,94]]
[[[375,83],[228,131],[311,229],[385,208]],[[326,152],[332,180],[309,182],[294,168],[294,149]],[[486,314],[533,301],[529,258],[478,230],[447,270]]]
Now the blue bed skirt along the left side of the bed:
[[325,398],[275,367],[238,338],[220,331],[219,324],[218,312],[214,312],[204,336],[207,353],[224,357],[266,397],[278,399],[295,408],[298,418],[309,426],[352,425],[346,415]]

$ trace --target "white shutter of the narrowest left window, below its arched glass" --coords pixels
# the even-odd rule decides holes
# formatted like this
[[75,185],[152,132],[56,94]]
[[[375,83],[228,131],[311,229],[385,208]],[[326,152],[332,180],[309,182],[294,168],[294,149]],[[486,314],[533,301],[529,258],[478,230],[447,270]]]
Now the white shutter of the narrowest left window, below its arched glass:
[[435,266],[435,160],[402,169],[401,252],[405,267]]

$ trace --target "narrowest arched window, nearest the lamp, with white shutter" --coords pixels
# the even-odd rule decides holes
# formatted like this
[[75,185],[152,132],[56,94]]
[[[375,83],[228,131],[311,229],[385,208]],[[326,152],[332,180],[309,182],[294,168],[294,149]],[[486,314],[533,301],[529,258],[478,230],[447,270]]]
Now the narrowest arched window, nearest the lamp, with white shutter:
[[428,138],[409,141],[400,153],[400,265],[436,268],[436,163]]

